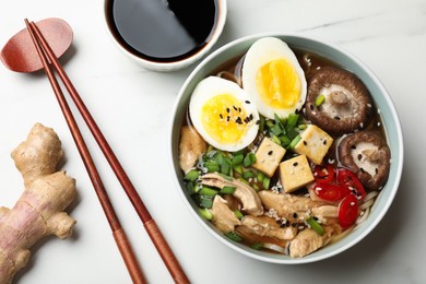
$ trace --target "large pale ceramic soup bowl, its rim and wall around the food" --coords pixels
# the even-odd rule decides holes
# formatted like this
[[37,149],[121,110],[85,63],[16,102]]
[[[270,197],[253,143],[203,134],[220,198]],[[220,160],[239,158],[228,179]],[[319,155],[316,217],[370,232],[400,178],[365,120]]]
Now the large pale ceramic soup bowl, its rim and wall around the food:
[[[352,230],[343,239],[324,248],[321,248],[309,256],[297,259],[293,259],[287,256],[253,250],[224,237],[223,234],[221,234],[210,222],[205,221],[200,216],[198,206],[193,203],[193,201],[185,189],[185,185],[182,182],[182,173],[179,168],[178,163],[179,130],[182,119],[185,118],[185,113],[191,93],[194,90],[197,83],[203,78],[211,74],[211,72],[218,66],[229,61],[237,56],[245,54],[252,43],[264,36],[279,37],[286,42],[289,47],[312,51],[317,55],[331,59],[341,67],[354,72],[366,84],[374,97],[378,109],[380,109],[381,119],[383,121],[383,127],[388,138],[388,145],[392,155],[389,179],[384,188],[380,191],[380,194],[377,198],[374,206],[371,208],[371,212],[368,218],[364,223],[362,223],[356,229]],[[391,205],[397,193],[398,187],[400,185],[403,167],[404,147],[399,117],[388,92],[384,90],[383,85],[376,78],[376,75],[359,59],[357,59],[343,48],[330,43],[324,43],[323,40],[295,34],[258,34],[244,37],[223,46],[222,48],[210,55],[208,58],[205,58],[189,75],[179,92],[171,115],[169,134],[169,157],[177,189],[185,204],[192,212],[196,220],[215,238],[217,238],[220,241],[222,241],[229,248],[239,251],[248,257],[273,263],[294,264],[319,261],[335,256],[360,241],[377,226],[377,224],[382,220],[383,215]]]

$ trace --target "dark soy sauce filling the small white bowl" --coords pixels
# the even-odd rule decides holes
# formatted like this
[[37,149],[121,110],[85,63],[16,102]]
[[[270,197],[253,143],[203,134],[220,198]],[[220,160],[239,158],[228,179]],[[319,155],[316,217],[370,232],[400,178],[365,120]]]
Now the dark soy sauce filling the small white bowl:
[[108,25],[131,54],[152,61],[185,59],[210,40],[217,0],[110,0]]

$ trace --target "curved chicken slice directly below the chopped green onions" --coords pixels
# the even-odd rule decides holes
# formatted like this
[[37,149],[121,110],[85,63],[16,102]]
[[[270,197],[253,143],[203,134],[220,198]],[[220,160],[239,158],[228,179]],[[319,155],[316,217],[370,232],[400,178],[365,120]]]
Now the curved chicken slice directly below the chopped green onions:
[[238,179],[222,176],[218,174],[205,174],[201,176],[200,182],[205,186],[224,188],[235,187],[233,196],[242,203],[242,211],[255,216],[263,214],[263,206],[260,202],[258,193],[250,186],[239,181]]

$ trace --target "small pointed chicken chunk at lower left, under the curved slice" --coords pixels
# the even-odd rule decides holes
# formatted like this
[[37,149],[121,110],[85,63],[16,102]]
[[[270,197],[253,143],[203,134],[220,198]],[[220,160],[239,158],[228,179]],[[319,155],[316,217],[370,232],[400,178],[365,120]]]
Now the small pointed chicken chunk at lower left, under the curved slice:
[[226,200],[218,194],[214,197],[211,211],[213,213],[212,223],[222,233],[233,232],[235,226],[241,224],[234,211],[228,208]]

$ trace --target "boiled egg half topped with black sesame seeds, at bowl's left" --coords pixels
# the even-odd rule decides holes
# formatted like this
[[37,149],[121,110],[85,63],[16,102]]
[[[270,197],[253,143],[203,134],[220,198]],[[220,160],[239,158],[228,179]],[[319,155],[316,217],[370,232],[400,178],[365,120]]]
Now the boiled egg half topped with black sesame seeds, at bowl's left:
[[238,84],[218,76],[208,76],[198,83],[189,116],[209,144],[228,152],[248,146],[259,129],[259,114],[247,93]]

